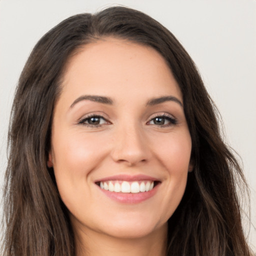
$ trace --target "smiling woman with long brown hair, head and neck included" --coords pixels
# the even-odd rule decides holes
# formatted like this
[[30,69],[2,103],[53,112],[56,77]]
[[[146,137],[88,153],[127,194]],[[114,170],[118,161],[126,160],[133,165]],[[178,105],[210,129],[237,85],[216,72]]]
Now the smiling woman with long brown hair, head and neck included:
[[250,255],[196,67],[125,7],[72,16],[35,45],[9,130],[3,255]]

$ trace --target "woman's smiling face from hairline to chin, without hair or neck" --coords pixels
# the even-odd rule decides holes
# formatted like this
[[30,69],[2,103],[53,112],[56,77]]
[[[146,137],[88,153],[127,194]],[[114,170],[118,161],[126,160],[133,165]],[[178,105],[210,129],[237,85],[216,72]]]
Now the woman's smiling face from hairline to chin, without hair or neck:
[[157,51],[106,38],[71,57],[48,165],[76,230],[115,237],[166,230],[190,152],[182,95]]

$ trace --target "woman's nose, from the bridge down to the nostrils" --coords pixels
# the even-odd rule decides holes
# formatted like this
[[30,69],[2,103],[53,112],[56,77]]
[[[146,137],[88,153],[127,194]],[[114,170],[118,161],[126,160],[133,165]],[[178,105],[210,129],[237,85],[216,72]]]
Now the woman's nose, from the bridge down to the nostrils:
[[144,132],[136,125],[119,127],[114,135],[111,156],[115,162],[128,166],[148,161],[150,150]]

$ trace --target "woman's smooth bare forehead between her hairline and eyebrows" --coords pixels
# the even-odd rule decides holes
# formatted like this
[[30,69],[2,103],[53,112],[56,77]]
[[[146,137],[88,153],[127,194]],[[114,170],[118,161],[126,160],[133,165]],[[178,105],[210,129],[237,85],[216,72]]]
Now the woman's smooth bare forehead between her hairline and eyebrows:
[[85,92],[115,94],[119,90],[161,96],[174,90],[182,100],[160,53],[150,46],[116,38],[100,39],[77,49],[67,62],[62,89],[76,96]]

